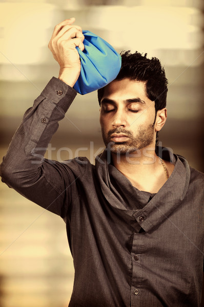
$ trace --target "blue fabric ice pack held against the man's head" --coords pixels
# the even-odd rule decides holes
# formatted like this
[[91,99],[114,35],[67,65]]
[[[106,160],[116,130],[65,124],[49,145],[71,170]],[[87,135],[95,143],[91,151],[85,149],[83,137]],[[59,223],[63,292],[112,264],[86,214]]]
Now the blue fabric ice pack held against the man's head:
[[85,49],[76,47],[81,61],[81,71],[74,89],[87,94],[113,81],[121,67],[121,56],[103,38],[90,31],[83,31]]

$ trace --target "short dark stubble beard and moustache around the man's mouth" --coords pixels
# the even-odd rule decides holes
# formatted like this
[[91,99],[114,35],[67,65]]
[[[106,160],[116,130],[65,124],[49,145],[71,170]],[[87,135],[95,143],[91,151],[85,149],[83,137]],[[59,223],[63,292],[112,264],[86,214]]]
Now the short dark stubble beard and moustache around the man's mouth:
[[[106,147],[108,147],[111,152],[116,154],[119,153],[120,155],[126,155],[127,153],[145,148],[153,142],[154,124],[150,124],[146,128],[139,126],[136,135],[133,135],[131,131],[124,128],[111,129],[108,131],[108,134],[105,134],[104,129],[101,128],[101,133]],[[123,133],[128,136],[129,139],[124,142],[113,142],[111,141],[111,135],[113,133]]]

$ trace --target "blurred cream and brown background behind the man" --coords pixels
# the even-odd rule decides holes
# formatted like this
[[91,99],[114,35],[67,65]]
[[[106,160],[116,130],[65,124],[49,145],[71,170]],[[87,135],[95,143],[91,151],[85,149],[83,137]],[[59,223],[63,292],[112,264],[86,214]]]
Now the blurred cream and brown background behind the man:
[[[58,64],[47,45],[56,24],[76,24],[120,52],[156,56],[169,79],[168,121],[160,144],[203,165],[202,0],[35,0],[0,2],[1,160],[23,114]],[[87,156],[103,149],[96,92],[77,95],[49,145],[47,157]],[[0,184],[0,307],[65,307],[73,263],[64,222]]]

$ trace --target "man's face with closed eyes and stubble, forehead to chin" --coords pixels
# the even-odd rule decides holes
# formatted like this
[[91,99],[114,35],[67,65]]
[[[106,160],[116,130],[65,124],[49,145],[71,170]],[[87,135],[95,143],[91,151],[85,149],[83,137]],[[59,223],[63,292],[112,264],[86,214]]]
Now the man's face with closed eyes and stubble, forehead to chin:
[[[105,145],[125,155],[145,147],[154,148],[154,102],[145,93],[145,83],[123,79],[104,89],[100,125]],[[111,142],[111,143],[110,143]]]

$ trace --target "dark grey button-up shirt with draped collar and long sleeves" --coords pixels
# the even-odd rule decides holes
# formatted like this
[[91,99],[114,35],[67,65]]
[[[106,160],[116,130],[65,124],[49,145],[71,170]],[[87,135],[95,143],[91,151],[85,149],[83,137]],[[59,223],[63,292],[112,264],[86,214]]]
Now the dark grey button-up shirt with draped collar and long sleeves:
[[175,164],[156,194],[139,191],[105,150],[63,163],[43,159],[76,92],[52,78],[25,113],[1,166],[3,182],[62,216],[74,260],[70,307],[199,306],[203,174]]

